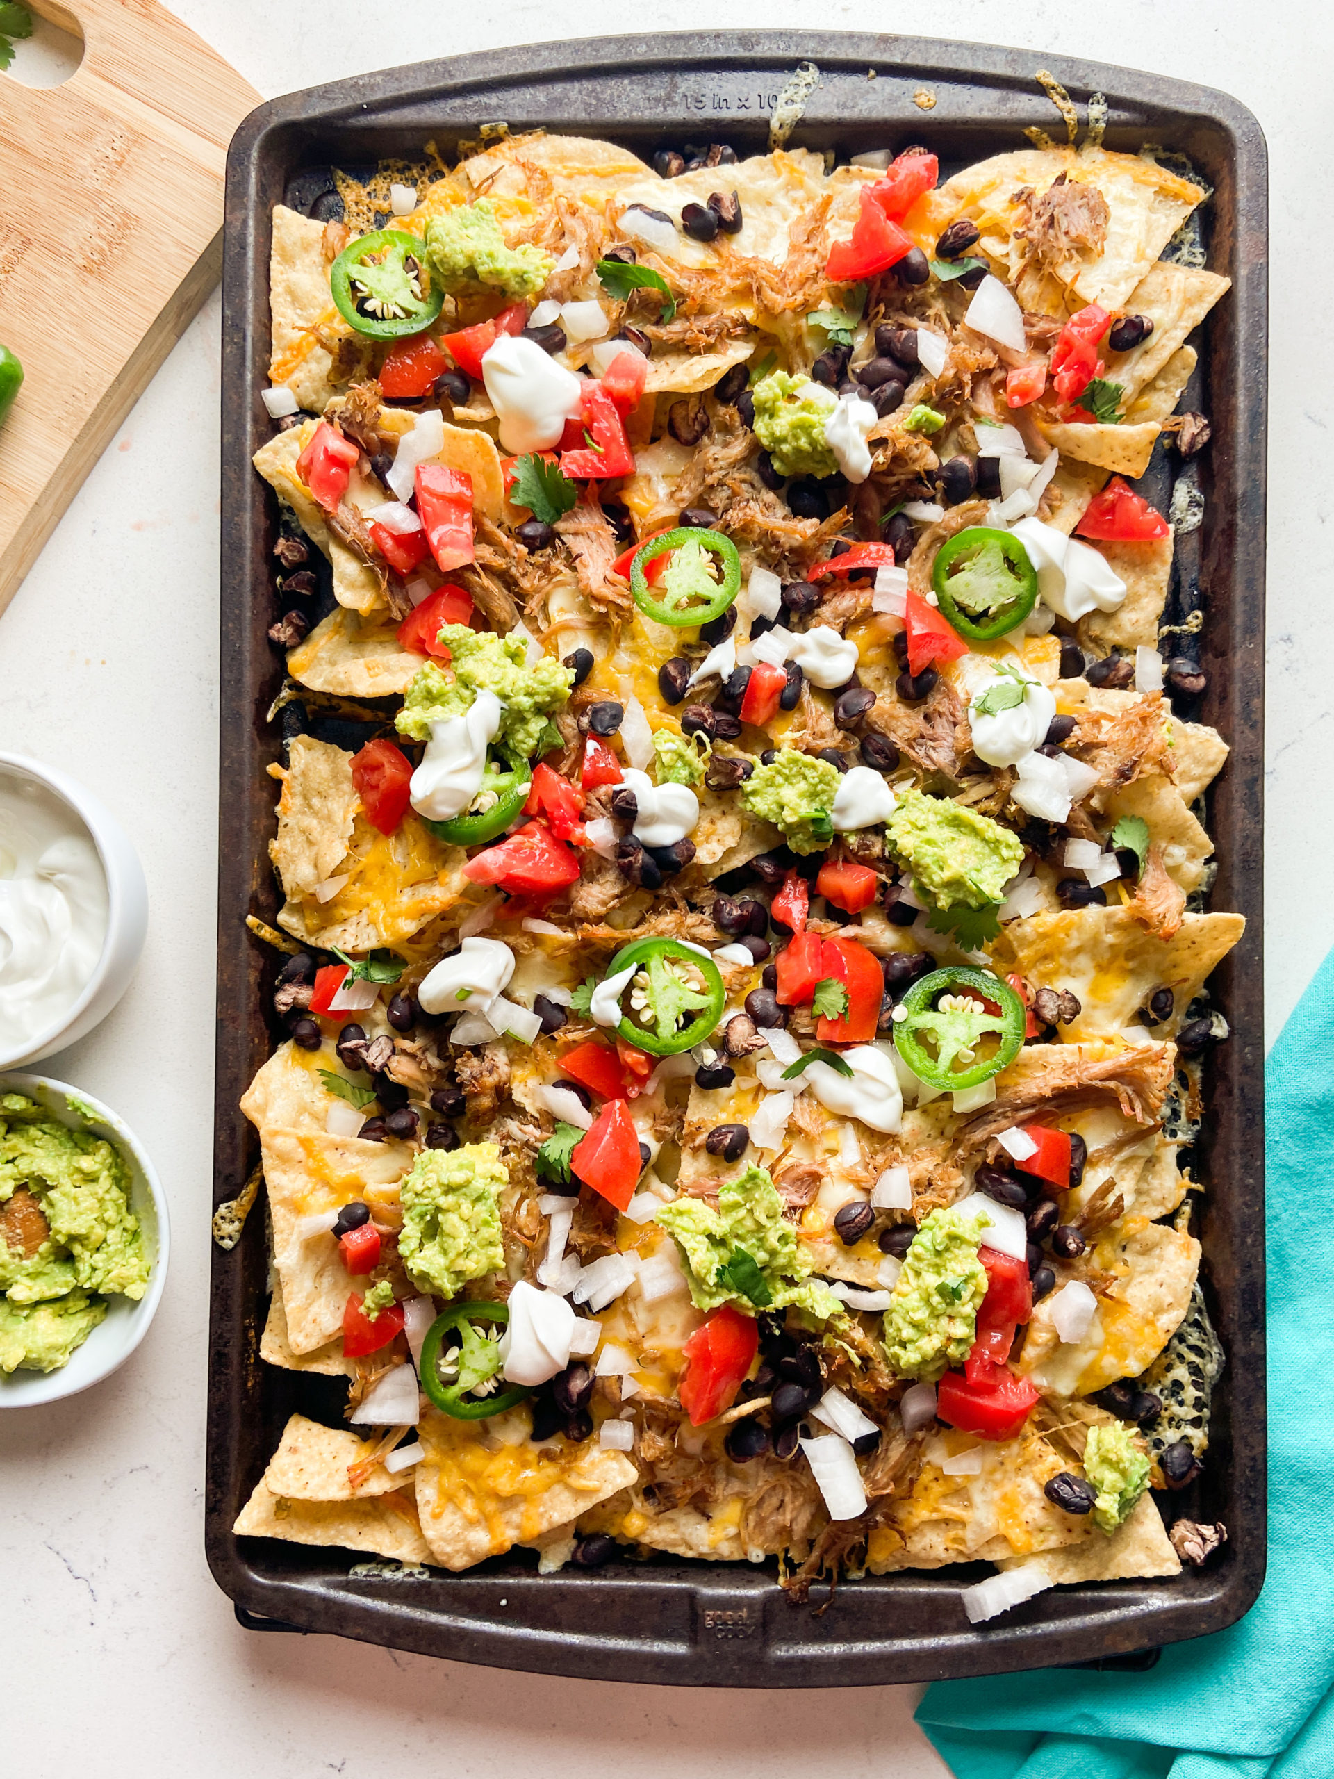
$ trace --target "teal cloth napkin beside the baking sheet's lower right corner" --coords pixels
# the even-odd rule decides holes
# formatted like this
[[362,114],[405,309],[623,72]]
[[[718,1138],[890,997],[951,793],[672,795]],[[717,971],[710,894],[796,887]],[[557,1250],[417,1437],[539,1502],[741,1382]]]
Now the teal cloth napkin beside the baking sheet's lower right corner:
[[1334,1779],[1334,954],[1265,1071],[1268,1573],[1245,1619],[1147,1674],[939,1681],[955,1779]]

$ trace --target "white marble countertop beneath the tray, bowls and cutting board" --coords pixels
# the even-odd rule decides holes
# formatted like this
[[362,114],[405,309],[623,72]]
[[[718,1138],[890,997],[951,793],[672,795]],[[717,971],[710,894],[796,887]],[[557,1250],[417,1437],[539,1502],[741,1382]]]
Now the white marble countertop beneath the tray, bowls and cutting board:
[[[512,0],[503,20],[438,0],[176,0],[174,11],[263,94],[628,23],[614,0],[578,9]],[[800,0],[736,0],[724,14],[703,0],[660,0],[651,18],[663,30],[815,23]],[[891,21],[889,9],[847,0],[818,16],[848,30]],[[1334,336],[1309,320],[1334,279],[1325,231],[1334,25],[1302,0],[1272,0],[1263,18],[1242,0],[1121,0],[1112,12],[937,0],[911,23],[1222,87],[1268,137],[1274,263],[1293,270],[1272,292],[1270,345],[1274,1037],[1334,938],[1334,790],[1323,779],[1334,694],[1302,640],[1334,592],[1323,486]],[[148,1140],[176,1236],[165,1300],[135,1359],[84,1397],[0,1416],[12,1770],[44,1779],[91,1759],[108,1779],[167,1770],[512,1779],[541,1765],[580,1779],[669,1768],[676,1779],[715,1779],[763,1761],[772,1779],[815,1765],[841,1779],[939,1775],[911,1720],[916,1688],[683,1694],[445,1667],[325,1637],[260,1637],[237,1626],[205,1567],[219,313],[215,294],[0,619],[0,747],[39,754],[94,788],[130,829],[151,893],[130,993],[98,1032],[43,1067],[110,1101]]]

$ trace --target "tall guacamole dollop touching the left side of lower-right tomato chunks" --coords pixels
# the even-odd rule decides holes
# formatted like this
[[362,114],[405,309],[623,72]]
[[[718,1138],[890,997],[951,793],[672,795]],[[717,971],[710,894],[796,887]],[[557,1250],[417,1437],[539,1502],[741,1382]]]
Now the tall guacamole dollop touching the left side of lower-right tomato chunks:
[[934,1384],[971,1352],[987,1295],[982,1229],[982,1217],[941,1210],[914,1235],[884,1313],[884,1350],[898,1377]]

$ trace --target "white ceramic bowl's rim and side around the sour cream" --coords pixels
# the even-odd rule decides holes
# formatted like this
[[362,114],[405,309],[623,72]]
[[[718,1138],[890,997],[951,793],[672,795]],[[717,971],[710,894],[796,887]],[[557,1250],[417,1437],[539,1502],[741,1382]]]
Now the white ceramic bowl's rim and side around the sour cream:
[[0,1069],[16,1069],[64,1050],[92,1030],[112,1010],[130,986],[130,977],[144,950],[148,932],[148,884],[139,854],[130,845],[116,817],[89,790],[27,754],[0,753],[0,772],[23,772],[37,779],[69,804],[87,829],[107,877],[107,938],[101,943],[98,966],[84,986],[84,993],[36,1042],[5,1053],[0,1050]]

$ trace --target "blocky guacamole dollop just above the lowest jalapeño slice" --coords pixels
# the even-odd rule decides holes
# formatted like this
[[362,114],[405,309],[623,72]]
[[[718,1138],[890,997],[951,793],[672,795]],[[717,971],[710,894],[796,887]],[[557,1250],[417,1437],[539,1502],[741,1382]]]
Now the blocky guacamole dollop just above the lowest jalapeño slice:
[[398,1256],[420,1290],[455,1297],[470,1279],[505,1270],[496,1195],[507,1185],[494,1142],[418,1155],[398,1188]]

